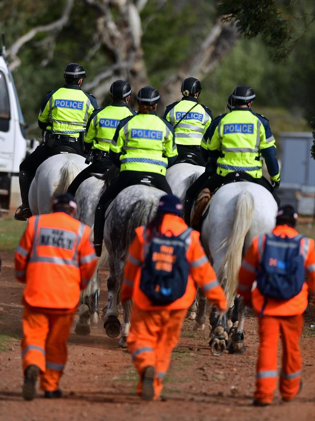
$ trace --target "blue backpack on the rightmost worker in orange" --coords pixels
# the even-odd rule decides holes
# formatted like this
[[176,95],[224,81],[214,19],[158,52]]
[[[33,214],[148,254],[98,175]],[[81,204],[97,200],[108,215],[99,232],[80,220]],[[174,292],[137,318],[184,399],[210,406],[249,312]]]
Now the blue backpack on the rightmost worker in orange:
[[304,259],[300,254],[303,236],[289,238],[266,235],[257,287],[267,298],[288,300],[299,294],[305,281]]

